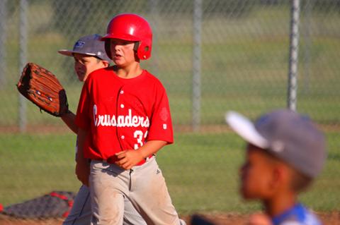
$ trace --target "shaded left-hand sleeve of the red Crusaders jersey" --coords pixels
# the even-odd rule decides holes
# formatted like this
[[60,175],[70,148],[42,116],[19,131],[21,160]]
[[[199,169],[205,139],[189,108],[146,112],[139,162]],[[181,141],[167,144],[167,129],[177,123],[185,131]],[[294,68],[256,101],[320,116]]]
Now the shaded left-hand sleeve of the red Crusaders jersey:
[[89,78],[85,81],[81,90],[81,95],[77,108],[76,125],[84,130],[88,130],[90,126],[89,107],[90,107],[90,95],[89,95]]

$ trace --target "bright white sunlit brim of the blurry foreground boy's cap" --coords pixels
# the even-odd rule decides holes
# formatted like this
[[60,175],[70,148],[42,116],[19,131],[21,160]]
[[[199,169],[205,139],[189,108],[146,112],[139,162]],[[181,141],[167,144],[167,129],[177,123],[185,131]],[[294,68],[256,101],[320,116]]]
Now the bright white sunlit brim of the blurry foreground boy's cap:
[[238,135],[240,135],[246,142],[251,143],[257,147],[266,149],[269,147],[266,138],[257,132],[255,126],[251,121],[235,111],[229,111],[225,114],[225,121]]

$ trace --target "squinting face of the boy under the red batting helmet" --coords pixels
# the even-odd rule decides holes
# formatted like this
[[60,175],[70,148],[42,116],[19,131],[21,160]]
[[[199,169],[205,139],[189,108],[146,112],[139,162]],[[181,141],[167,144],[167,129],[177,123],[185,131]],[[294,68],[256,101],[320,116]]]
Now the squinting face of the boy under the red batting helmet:
[[120,68],[130,66],[130,64],[134,63],[137,59],[135,51],[133,50],[135,42],[125,41],[122,39],[111,39],[110,47],[112,60],[115,65]]

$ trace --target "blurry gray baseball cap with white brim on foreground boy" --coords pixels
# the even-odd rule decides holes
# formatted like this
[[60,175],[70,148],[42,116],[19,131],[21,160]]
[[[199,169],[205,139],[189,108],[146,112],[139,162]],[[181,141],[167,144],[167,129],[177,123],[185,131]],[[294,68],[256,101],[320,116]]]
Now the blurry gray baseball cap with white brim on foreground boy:
[[322,170],[327,157],[324,135],[307,116],[278,109],[255,124],[234,111],[225,119],[246,142],[271,152],[302,174],[314,178]]

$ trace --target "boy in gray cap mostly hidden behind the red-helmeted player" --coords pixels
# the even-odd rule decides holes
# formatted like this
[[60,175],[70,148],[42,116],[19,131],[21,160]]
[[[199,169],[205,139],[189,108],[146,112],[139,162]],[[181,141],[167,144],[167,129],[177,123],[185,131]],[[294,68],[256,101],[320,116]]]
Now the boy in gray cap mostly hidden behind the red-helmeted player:
[[[84,82],[88,75],[99,69],[109,66],[111,59],[105,52],[104,43],[101,42],[100,35],[87,35],[81,37],[72,50],[60,50],[60,54],[71,56],[74,58],[74,71],[79,81]],[[62,116],[62,121],[74,132],[78,132],[74,120],[75,115],[69,111],[68,114]],[[89,188],[81,186],[77,196],[74,199],[71,212],[64,220],[64,225],[89,225],[91,223],[91,201]],[[131,202],[125,200],[124,224],[146,224],[144,219],[138,214]]]

